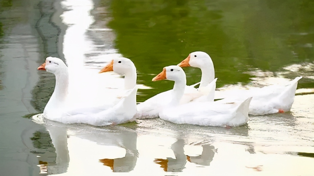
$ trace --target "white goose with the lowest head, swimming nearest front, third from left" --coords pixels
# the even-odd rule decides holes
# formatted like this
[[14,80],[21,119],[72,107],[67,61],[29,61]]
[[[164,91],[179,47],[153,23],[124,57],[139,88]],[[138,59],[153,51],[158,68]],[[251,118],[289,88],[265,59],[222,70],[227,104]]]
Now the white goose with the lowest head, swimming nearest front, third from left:
[[153,78],[173,80],[176,87],[168,97],[170,103],[164,107],[159,117],[173,123],[188,123],[202,126],[240,126],[248,121],[248,108],[252,97],[241,103],[219,103],[217,101],[189,102],[180,105],[186,86],[186,75],[181,67],[172,65]]

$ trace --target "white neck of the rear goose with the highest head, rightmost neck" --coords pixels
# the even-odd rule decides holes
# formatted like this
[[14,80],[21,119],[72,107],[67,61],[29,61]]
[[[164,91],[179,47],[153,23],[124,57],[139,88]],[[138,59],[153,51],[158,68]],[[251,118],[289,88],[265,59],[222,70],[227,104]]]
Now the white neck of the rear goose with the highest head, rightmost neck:
[[202,71],[202,77],[199,87],[205,87],[215,79],[215,69],[212,59],[209,57],[200,69]]

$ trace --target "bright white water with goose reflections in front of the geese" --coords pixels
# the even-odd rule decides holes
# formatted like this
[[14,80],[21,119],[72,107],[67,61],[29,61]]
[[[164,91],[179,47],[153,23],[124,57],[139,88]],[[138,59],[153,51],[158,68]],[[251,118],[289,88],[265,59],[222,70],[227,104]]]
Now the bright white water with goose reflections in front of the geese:
[[[189,128],[182,127],[177,127],[181,131],[176,134],[160,135],[165,130],[144,134],[147,129],[143,127],[134,131],[119,126],[97,128],[51,121],[47,121],[46,126],[57,154],[57,165],[48,165],[48,172],[60,175],[114,175],[113,172],[165,175],[165,171],[170,172],[166,175],[207,175],[208,172],[214,175],[306,175],[314,172],[313,158],[295,156],[298,152],[313,153],[313,147],[309,146],[313,142],[306,144],[304,137],[283,136],[281,132],[289,132],[280,128],[268,129],[269,134],[259,133],[259,129],[267,131],[270,127],[267,124],[264,128],[252,127],[248,137],[228,134],[230,129],[222,127],[199,129],[194,126],[196,131],[208,134],[208,137],[198,138],[194,137],[196,134],[188,136],[195,132],[187,132]],[[283,139],[279,140],[279,136]],[[200,138],[210,139],[211,144],[189,145],[199,142]],[[252,169],[259,165],[263,165],[261,173]]]

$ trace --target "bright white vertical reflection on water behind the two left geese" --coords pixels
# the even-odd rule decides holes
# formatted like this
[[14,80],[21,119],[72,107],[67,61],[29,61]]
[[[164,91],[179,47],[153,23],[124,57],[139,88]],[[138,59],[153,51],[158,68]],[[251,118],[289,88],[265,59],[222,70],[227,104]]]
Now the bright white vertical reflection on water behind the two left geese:
[[[106,88],[120,89],[124,84],[122,77],[113,72],[98,74],[113,58],[122,57],[113,45],[114,32],[100,30],[100,25],[106,24],[99,24],[100,20],[95,21],[90,14],[91,11],[104,13],[106,8],[93,9],[91,0],[66,0],[62,6],[69,9],[61,15],[62,22],[68,26],[62,46],[69,69],[69,99],[73,102],[83,99],[90,106],[99,106],[119,91]],[[148,87],[139,85],[138,88]]]

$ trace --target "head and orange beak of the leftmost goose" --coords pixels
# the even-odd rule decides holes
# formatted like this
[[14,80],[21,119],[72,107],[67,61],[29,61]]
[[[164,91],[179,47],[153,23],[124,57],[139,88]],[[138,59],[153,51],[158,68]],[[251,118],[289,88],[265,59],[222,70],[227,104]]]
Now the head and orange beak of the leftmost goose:
[[67,65],[56,57],[47,57],[46,62],[37,68],[37,70],[45,70],[49,73],[56,74],[59,70],[67,69]]

